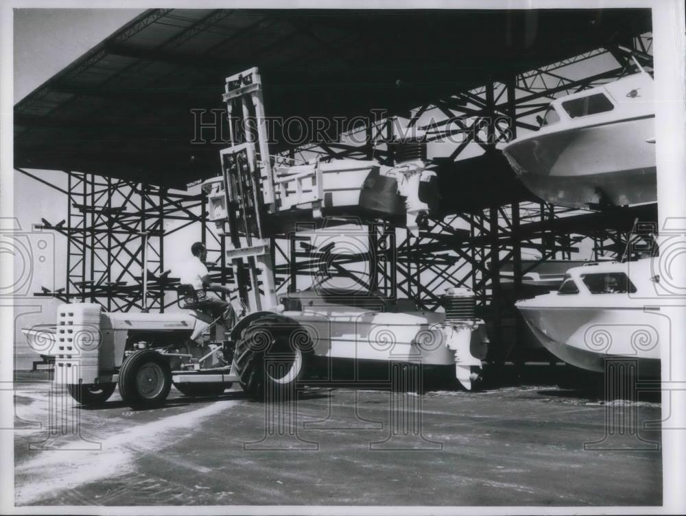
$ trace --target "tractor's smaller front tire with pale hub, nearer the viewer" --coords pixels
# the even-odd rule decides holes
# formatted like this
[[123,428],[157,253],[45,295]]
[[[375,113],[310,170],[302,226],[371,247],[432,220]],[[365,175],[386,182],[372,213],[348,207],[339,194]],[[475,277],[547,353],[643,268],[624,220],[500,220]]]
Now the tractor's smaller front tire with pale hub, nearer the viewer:
[[131,408],[161,406],[171,389],[171,367],[153,349],[130,354],[119,369],[119,394]]

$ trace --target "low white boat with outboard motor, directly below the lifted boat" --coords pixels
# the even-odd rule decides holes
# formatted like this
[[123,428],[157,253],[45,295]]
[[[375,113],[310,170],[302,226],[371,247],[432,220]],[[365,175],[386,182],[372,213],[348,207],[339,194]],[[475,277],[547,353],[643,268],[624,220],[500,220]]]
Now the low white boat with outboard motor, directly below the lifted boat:
[[[453,373],[467,390],[482,381],[489,341],[484,321],[475,316],[476,299],[469,288],[447,288],[440,297],[443,311],[364,288],[339,288],[329,280],[285,293],[279,302],[281,314],[297,319],[310,334],[319,359],[382,367],[389,362],[421,365],[427,376]],[[327,361],[322,365],[327,366],[323,370],[329,367]]]

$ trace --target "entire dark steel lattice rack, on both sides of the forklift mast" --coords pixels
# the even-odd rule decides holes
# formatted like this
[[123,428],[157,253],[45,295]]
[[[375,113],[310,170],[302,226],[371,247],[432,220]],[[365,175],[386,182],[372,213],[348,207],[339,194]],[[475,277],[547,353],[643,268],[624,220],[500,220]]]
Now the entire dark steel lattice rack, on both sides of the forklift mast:
[[[578,66],[573,66],[609,57],[617,66],[595,75],[580,77]],[[414,108],[403,119],[403,125],[424,131],[429,145],[459,138],[451,144],[447,156],[429,156],[428,160],[428,169],[440,171],[449,162],[453,165],[450,173],[458,174],[468,149],[471,156],[496,156],[497,145],[516,137],[517,130],[536,129],[532,118],[543,112],[550,100],[626,75],[634,66],[631,57],[650,68],[650,36],[632,36],[525,73],[490,77],[479,88],[457,90]],[[305,160],[313,156],[321,160],[375,159],[392,165],[391,143],[397,136],[398,123],[398,114],[375,112],[370,123],[358,128],[365,136],[362,145],[340,138],[338,142],[290,149],[283,155]],[[484,167],[488,163],[484,160]],[[165,238],[193,223],[202,227],[202,241],[209,247],[210,260],[215,262],[211,272],[217,282],[233,280],[224,238],[206,223],[206,199],[202,194],[90,173],[67,174],[67,219],[58,223],[44,220],[42,226],[67,238],[67,284],[37,295],[64,302],[98,302],[107,310],[163,311],[174,303],[165,299],[165,294],[178,284],[165,269]],[[368,291],[413,298],[429,310],[438,307],[440,294],[447,286],[467,286],[475,292],[482,309],[489,310],[489,306],[499,306],[501,265],[506,262],[512,263],[517,297],[521,278],[527,272],[522,267],[523,251],[535,251],[541,262],[571,259],[589,239],[593,259],[621,256],[634,220],[634,211],[628,208],[591,213],[528,199],[498,201],[495,197],[487,206],[469,211],[459,204],[447,206],[444,202],[441,212],[429,219],[416,236],[388,221],[361,221],[366,248],[357,253],[335,254],[331,245],[312,245],[311,237],[303,231],[277,235],[272,239],[277,293],[295,291],[299,276],[338,275]],[[650,217],[651,213],[637,212],[641,217]],[[180,225],[165,230],[165,221]],[[147,288],[143,285],[146,262]],[[353,267],[362,262],[368,264],[366,269]],[[488,317],[499,326],[499,310],[490,309]]]

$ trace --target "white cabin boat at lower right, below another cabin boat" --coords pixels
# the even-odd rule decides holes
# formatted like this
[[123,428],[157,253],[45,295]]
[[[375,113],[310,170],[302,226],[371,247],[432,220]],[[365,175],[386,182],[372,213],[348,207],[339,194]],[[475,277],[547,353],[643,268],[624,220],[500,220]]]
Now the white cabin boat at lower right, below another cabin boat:
[[515,306],[549,352],[566,363],[602,373],[609,358],[634,358],[641,376],[658,376],[660,345],[669,319],[654,299],[659,276],[651,258],[573,267],[557,291]]

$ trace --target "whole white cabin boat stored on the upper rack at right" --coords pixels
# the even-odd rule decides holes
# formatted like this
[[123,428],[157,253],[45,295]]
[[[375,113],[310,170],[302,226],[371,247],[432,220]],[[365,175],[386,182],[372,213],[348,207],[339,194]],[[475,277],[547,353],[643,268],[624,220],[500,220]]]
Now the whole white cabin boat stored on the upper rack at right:
[[657,202],[653,79],[645,71],[555,99],[503,148],[519,180],[571,208]]

